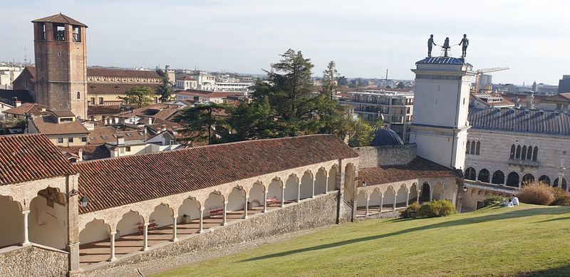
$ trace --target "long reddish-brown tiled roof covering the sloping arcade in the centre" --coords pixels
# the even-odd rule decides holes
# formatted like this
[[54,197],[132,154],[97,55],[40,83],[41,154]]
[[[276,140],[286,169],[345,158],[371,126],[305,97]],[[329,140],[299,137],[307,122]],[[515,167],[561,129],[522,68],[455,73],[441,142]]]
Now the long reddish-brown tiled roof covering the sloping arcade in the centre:
[[358,154],[335,135],[310,135],[208,145],[80,162],[80,213],[190,192],[271,172]]

